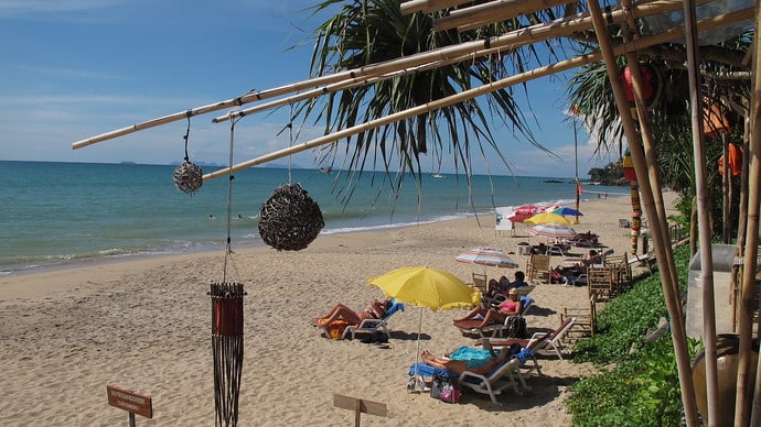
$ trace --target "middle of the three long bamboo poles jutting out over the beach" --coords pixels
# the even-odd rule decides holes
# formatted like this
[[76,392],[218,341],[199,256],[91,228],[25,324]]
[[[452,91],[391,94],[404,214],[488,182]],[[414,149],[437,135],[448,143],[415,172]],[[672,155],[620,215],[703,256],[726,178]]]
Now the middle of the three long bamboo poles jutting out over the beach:
[[[711,0],[698,0],[700,2],[709,2]],[[637,17],[646,17],[651,14],[664,13],[674,11],[682,8],[682,0],[655,0],[650,3],[639,4],[633,7],[635,9]],[[623,10],[615,10],[611,12],[611,18],[614,22],[622,21],[625,19],[625,12]],[[546,41],[551,37],[567,36],[575,32],[591,30],[592,20],[589,14],[582,17],[562,18],[548,23],[536,24],[525,29],[512,31],[510,33],[493,37],[487,45],[491,47],[482,48],[482,42],[468,42],[462,43],[459,46],[468,46],[465,48],[452,50],[450,47],[440,48],[430,52],[441,52],[441,55],[437,61],[419,64],[415,59],[418,55],[411,55],[404,59],[403,65],[407,65],[406,68],[397,69],[395,73],[386,74],[383,76],[376,76],[374,78],[352,78],[349,80],[339,81],[333,85],[324,86],[313,90],[304,91],[299,95],[291,97],[281,98],[275,101],[267,102],[266,105],[258,105],[255,107],[246,108],[243,110],[229,111],[224,116],[215,117],[212,122],[219,123],[233,118],[248,116],[255,112],[264,111],[270,108],[285,106],[287,103],[292,103],[308,98],[313,98],[315,96],[330,94],[341,89],[352,88],[363,84],[369,84],[375,81],[385,80],[388,78],[397,77],[408,73],[420,72],[424,69],[440,67],[449,64],[453,64],[462,61],[474,61],[478,57],[497,54],[505,48],[514,50],[527,44],[536,43],[539,41]],[[412,66],[416,66],[412,68]]]

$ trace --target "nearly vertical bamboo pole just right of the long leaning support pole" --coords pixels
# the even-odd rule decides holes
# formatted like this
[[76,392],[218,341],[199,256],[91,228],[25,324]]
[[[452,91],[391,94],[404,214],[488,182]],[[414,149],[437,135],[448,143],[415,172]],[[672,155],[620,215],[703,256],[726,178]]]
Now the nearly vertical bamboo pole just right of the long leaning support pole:
[[[692,108],[693,155],[695,163],[695,187],[698,214],[698,240],[700,248],[700,286],[703,294],[704,363],[706,364],[706,402],[708,414],[703,414],[709,426],[719,423],[719,377],[716,361],[716,307],[714,293],[714,256],[711,249],[710,200],[707,194],[708,171],[706,167],[706,144],[703,134],[701,79],[697,52],[697,24],[694,0],[684,0],[685,30],[687,33],[687,72],[689,79],[689,105]],[[725,171],[725,174],[729,171]]]

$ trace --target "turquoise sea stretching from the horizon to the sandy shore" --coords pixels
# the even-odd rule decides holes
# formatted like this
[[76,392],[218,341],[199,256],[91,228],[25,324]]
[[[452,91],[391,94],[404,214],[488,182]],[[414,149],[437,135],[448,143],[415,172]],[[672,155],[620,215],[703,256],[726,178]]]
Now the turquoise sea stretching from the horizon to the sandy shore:
[[[176,165],[0,161],[0,275],[129,256],[265,245],[259,210],[283,184],[320,206],[321,234],[492,216],[496,207],[574,206],[574,178],[253,167],[208,179],[187,195]],[[222,166],[202,166],[204,173]],[[581,199],[621,194],[585,186]]]

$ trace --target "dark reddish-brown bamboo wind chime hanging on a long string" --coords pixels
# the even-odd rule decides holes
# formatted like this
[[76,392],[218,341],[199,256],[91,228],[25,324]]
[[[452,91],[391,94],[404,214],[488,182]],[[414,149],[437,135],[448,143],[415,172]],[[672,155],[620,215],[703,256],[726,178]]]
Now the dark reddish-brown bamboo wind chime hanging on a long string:
[[[235,121],[231,124],[229,162],[233,162]],[[233,175],[227,190],[227,245],[222,283],[212,283],[212,353],[214,360],[214,409],[216,426],[237,426],[238,397],[243,374],[243,297],[242,283],[227,281],[232,250]]]

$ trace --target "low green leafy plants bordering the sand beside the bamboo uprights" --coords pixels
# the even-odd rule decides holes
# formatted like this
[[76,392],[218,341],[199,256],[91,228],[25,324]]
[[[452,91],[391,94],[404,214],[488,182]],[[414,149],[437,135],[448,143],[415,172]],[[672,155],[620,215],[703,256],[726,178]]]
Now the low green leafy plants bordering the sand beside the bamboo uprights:
[[[677,248],[674,259],[679,284],[686,288],[688,248]],[[658,275],[640,278],[599,311],[598,333],[576,344],[574,361],[591,361],[604,369],[571,386],[566,405],[574,425],[679,424],[682,399],[671,335],[645,342],[661,317],[668,315]],[[696,342],[690,341],[693,355],[696,350]]]

